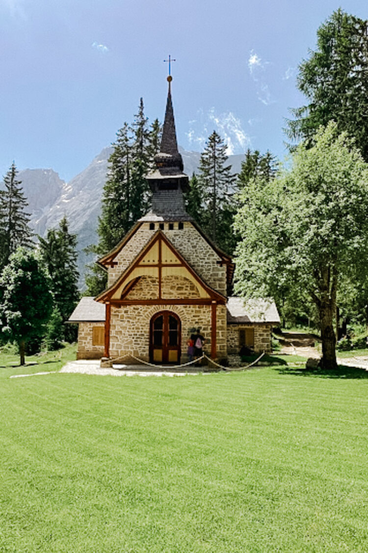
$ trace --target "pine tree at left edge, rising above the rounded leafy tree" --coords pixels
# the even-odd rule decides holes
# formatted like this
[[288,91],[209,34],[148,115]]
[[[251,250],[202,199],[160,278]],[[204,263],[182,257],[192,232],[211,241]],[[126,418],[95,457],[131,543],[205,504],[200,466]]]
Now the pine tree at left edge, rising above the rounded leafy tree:
[[17,179],[14,161],[6,176],[5,190],[0,190],[0,269],[8,263],[9,257],[19,246],[30,247],[32,232],[29,228],[28,206],[22,186]]

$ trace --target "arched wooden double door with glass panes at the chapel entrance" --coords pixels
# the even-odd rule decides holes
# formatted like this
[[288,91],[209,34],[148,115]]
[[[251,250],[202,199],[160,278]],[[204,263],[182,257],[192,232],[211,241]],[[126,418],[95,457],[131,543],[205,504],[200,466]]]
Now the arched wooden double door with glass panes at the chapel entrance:
[[150,324],[151,363],[180,363],[182,325],[172,311],[159,311]]

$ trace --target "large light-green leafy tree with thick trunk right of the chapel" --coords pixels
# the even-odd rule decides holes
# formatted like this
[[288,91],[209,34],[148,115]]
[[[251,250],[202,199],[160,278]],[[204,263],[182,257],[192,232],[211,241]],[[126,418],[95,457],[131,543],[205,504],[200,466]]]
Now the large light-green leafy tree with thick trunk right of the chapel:
[[333,368],[337,290],[365,279],[368,256],[368,169],[359,150],[330,123],[312,147],[297,148],[290,170],[250,181],[239,199],[236,291],[314,304],[323,362]]

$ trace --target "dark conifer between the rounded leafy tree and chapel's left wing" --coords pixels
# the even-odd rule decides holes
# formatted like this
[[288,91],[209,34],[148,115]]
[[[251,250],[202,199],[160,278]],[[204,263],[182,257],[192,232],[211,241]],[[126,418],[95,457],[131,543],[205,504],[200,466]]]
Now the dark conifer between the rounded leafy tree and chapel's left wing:
[[[46,238],[39,237],[40,254],[51,278],[54,305],[62,321],[67,321],[79,299],[77,269],[77,236],[68,229],[63,217],[57,229],[49,229]],[[74,341],[75,329],[65,325],[61,340]]]

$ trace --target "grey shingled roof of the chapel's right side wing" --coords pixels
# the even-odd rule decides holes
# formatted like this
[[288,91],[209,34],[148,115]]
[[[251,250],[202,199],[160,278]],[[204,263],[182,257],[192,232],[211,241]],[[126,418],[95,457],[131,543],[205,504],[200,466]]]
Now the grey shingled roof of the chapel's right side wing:
[[280,317],[272,299],[251,299],[245,301],[243,298],[231,296],[227,300],[227,322],[228,324],[239,323],[270,323],[280,324]]

